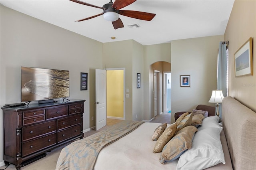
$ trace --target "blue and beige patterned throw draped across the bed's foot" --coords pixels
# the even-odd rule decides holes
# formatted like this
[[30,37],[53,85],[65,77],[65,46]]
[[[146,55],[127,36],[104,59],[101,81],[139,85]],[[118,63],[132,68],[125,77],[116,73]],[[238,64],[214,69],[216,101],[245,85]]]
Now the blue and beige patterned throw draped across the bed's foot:
[[56,170],[92,170],[102,148],[129,134],[141,121],[122,121],[112,127],[72,142],[60,152]]

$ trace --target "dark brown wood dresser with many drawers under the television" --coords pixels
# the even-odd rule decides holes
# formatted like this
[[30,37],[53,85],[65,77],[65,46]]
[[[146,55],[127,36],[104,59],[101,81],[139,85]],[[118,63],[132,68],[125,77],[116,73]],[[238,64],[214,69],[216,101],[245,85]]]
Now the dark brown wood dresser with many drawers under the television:
[[5,164],[12,163],[20,170],[46,156],[45,152],[82,139],[84,101],[2,107]]

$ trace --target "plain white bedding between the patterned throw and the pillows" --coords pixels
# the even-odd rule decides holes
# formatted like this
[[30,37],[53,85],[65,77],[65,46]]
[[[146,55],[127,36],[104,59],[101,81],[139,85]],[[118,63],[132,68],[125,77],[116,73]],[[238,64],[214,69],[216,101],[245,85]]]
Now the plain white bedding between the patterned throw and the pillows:
[[[153,153],[156,141],[152,135],[161,123],[143,123],[136,130],[103,148],[96,160],[95,170],[176,170],[178,159],[168,164],[159,162],[161,153]],[[169,127],[170,125],[167,125]],[[226,164],[218,164],[208,170],[232,170],[226,138],[221,133]],[[223,144],[224,143],[224,144]]]

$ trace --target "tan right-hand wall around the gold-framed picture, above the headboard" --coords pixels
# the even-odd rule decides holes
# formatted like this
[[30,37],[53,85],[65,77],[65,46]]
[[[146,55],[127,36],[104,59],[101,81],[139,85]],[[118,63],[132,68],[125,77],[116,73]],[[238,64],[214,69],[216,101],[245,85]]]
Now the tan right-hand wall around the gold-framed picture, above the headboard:
[[[234,53],[236,53],[241,45],[250,37],[254,39],[253,75],[235,77]],[[224,34],[224,40],[229,42],[228,93],[253,111],[256,111],[256,1],[235,0]]]

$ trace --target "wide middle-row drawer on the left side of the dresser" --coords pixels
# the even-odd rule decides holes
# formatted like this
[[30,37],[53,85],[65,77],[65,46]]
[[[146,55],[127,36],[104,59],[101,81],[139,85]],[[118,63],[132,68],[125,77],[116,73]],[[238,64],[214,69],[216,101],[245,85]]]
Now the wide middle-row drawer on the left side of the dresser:
[[40,123],[22,128],[22,141],[56,131],[56,121]]

